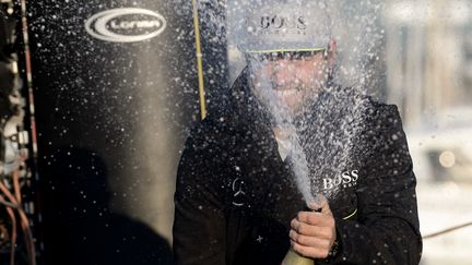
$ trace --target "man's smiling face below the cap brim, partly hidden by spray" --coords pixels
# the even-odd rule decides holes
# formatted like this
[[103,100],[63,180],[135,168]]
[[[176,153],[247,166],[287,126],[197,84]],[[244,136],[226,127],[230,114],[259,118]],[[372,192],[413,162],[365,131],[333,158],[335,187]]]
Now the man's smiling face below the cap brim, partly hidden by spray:
[[329,63],[323,51],[278,52],[253,58],[252,87],[266,105],[282,105],[292,115],[302,110],[328,80]]

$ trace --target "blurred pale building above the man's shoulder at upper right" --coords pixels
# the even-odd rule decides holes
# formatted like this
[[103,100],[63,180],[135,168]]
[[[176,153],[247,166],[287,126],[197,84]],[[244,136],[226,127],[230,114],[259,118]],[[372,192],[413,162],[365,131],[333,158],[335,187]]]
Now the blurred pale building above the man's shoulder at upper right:
[[[472,1],[390,1],[388,98],[406,127],[430,125],[472,103]],[[472,119],[472,116],[469,116]]]

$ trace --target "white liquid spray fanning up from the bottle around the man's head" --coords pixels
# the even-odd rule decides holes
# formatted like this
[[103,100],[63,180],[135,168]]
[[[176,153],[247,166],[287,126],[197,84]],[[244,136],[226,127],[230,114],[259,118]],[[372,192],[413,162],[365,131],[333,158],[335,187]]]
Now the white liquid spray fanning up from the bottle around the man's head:
[[[239,52],[237,47],[245,40],[247,13],[259,2],[227,3],[226,31],[232,65],[245,64],[238,61],[243,56],[237,57],[235,53]],[[380,96],[379,88],[384,86],[386,77],[381,56],[385,31],[380,22],[384,1],[320,2],[324,3],[323,12],[330,17],[331,38],[338,44],[331,84],[322,84],[322,92],[308,98],[300,116],[293,116],[280,100],[274,89],[278,84],[270,76],[261,79],[258,84],[261,87],[258,97],[268,103],[267,109],[271,112],[274,125],[287,132],[293,174],[308,204],[315,202],[319,193],[328,198],[335,197],[340,189],[344,188],[342,173],[358,169],[354,165],[358,156],[355,148],[368,117],[370,103],[366,96]],[[303,0],[293,0],[291,3],[308,9]],[[314,4],[311,8],[321,5]],[[255,59],[250,64],[250,74],[257,75],[264,62]],[[235,71],[234,75],[238,73]]]

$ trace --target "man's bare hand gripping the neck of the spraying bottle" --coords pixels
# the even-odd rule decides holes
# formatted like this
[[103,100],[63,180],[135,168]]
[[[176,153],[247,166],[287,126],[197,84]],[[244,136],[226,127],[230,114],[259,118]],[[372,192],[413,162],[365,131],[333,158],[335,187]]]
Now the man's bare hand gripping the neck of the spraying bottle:
[[298,212],[288,234],[292,249],[303,256],[324,258],[337,238],[334,217],[323,195],[318,195],[317,203],[309,207],[321,212]]

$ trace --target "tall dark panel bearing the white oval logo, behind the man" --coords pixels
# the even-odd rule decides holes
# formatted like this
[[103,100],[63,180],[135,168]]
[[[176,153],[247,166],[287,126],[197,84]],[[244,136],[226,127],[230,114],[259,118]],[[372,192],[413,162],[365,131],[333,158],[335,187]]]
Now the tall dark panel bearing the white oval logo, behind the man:
[[[191,1],[28,9],[46,263],[169,264],[179,150],[200,119]],[[212,103],[226,49],[205,53],[221,43],[202,20]]]

